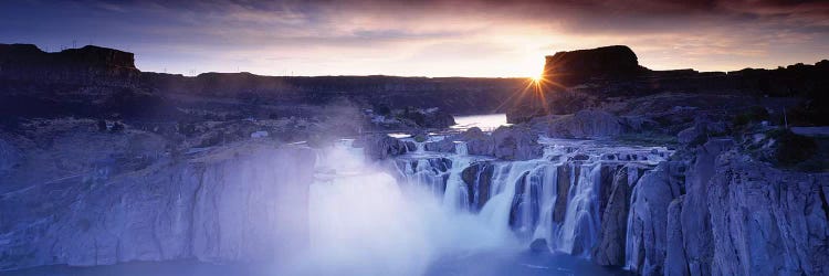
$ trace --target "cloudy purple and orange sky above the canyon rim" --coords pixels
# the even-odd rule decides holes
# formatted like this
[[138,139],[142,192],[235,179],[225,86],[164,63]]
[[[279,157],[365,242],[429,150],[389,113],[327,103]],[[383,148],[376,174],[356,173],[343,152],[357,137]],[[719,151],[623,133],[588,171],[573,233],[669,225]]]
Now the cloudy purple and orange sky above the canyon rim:
[[618,44],[653,70],[732,71],[829,59],[829,1],[12,0],[0,43],[114,47],[185,75],[524,77]]

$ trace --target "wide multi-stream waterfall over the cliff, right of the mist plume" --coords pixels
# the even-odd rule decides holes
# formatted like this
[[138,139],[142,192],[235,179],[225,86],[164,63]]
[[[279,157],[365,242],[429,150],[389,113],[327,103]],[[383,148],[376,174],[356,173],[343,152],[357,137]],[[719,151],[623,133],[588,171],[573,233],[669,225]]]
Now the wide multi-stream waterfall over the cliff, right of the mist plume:
[[[653,164],[668,156],[664,148],[567,141],[546,145],[539,159],[504,161],[470,156],[465,142],[455,141],[454,147],[454,153],[427,151],[402,158],[398,163],[405,182],[432,188],[442,209],[475,215],[499,235],[514,236],[525,245],[542,238],[552,252],[588,258],[601,232],[601,191],[610,189],[602,185],[612,184],[602,183],[602,166]],[[436,155],[451,166],[438,168]],[[642,167],[626,168],[628,184],[634,185]],[[631,203],[636,194],[634,189]],[[632,224],[628,217],[629,230]],[[627,238],[631,238],[630,231]],[[627,241],[628,252],[630,244]],[[626,256],[628,264],[630,257]]]

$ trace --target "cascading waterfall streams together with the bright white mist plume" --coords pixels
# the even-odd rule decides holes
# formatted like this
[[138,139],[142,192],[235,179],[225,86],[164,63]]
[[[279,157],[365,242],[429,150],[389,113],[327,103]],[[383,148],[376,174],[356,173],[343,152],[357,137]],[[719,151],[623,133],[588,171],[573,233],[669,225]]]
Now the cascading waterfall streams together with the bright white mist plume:
[[[312,251],[300,267],[303,274],[420,275],[447,257],[526,248],[535,238],[546,240],[550,252],[589,258],[601,229],[600,159],[607,151],[620,151],[612,160],[660,158],[643,148],[591,147],[549,144],[543,158],[496,161],[470,156],[464,142],[455,142],[454,153],[426,151],[418,144],[418,150],[395,160],[397,179],[367,164],[361,149],[348,142],[327,149],[311,191]],[[571,160],[579,155],[589,158]],[[462,172],[481,160],[489,160],[492,176],[489,200],[475,214],[470,193],[482,191],[478,182],[465,183]],[[563,166],[570,173],[566,194],[558,191]],[[632,183],[636,171],[629,176]],[[566,210],[555,222],[559,197],[566,197]]]

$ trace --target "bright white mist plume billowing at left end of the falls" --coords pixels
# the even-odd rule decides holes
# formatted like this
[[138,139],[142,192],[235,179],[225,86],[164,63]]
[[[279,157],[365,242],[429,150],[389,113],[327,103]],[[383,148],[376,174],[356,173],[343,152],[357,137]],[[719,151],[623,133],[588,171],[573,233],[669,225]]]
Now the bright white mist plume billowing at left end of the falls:
[[[432,191],[417,189],[424,185],[400,189],[347,142],[321,157],[311,185],[311,251],[286,274],[421,275],[443,256],[515,246],[479,217],[447,212]],[[327,167],[335,163],[351,166]]]

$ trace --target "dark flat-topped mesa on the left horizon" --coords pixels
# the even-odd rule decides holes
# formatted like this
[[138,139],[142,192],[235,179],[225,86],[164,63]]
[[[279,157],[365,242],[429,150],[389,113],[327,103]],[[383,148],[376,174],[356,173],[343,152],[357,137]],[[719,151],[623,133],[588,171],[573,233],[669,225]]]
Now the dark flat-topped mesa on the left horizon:
[[139,74],[135,55],[114,49],[87,45],[48,53],[33,44],[0,44],[0,78],[125,85]]

